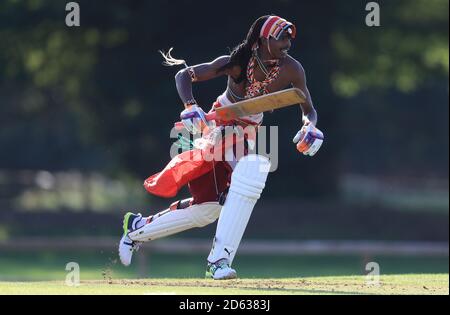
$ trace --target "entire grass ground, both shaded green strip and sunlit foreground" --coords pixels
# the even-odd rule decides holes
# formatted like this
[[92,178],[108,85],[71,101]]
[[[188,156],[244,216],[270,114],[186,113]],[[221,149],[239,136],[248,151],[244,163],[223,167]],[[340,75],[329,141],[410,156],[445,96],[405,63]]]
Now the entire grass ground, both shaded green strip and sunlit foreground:
[[[204,256],[147,253],[125,268],[115,252],[2,252],[0,294],[449,294],[447,256],[241,255],[231,281],[201,279]],[[64,283],[72,261],[78,287]],[[379,286],[366,283],[368,261],[380,266]]]

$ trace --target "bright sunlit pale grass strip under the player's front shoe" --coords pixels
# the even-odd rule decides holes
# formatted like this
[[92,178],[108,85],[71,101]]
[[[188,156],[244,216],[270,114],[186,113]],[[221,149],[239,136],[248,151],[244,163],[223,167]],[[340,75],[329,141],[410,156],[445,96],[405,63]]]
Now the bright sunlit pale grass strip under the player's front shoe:
[[0,282],[1,294],[148,294],[148,295],[310,295],[310,294],[449,294],[448,274],[405,274],[380,277],[379,285],[363,276],[237,279],[106,280]]

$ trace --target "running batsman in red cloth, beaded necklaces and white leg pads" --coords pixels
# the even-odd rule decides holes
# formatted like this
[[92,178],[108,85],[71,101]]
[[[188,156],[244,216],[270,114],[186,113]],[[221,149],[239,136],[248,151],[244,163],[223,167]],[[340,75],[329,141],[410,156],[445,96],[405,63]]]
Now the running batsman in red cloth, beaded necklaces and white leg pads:
[[[295,35],[294,24],[275,15],[266,15],[253,23],[247,37],[230,55],[212,62],[188,66],[184,60],[173,58],[171,50],[162,53],[166,65],[185,65],[175,76],[185,107],[180,114],[181,126],[193,134],[222,137],[226,137],[222,131],[227,127],[257,131],[262,123],[262,112],[245,117],[235,115],[227,120],[221,119],[219,112],[253,98],[259,100],[283,93],[286,88],[298,89],[303,95],[302,102],[297,102],[302,110],[303,126],[293,142],[301,153],[313,156],[322,145],[323,133],[316,128],[317,113],[306,86],[305,71],[288,54]],[[205,113],[192,94],[192,84],[220,76],[228,77],[227,87],[209,113]],[[217,114],[214,120],[211,114]],[[241,136],[233,141],[234,145],[244,143],[248,148],[254,143],[254,137]],[[226,159],[205,159],[198,148],[184,151],[161,172],[145,180],[144,187],[151,194],[172,198],[181,187],[188,185],[192,198],[176,201],[168,209],[148,217],[131,212],[125,214],[119,244],[120,260],[125,266],[130,265],[133,252],[141,243],[203,227],[219,219],[207,258],[206,277],[215,280],[237,277],[232,268],[233,260],[264,189],[270,161],[247,149],[238,155],[233,146],[223,148]]]

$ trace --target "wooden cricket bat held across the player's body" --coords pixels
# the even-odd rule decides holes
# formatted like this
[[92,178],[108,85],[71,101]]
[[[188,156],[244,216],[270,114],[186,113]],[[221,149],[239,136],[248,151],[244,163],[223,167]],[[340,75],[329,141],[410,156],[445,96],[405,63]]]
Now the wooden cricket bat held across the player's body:
[[[255,115],[275,109],[304,103],[305,94],[297,88],[290,88],[274,93],[269,93],[255,98],[236,102],[233,105],[216,108],[215,111],[206,114],[206,120],[229,121],[239,117]],[[177,129],[183,128],[182,122],[175,123]]]

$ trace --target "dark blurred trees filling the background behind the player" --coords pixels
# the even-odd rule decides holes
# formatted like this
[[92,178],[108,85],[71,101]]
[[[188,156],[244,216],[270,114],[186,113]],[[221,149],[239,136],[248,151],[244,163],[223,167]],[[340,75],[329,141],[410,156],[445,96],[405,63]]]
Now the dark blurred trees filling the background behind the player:
[[[326,141],[305,158],[291,142],[299,110],[267,114],[266,125],[279,126],[279,168],[263,199],[384,200],[437,207],[448,220],[447,0],[377,1],[380,27],[365,25],[368,1],[361,0],[77,2],[81,26],[72,28],[66,1],[0,2],[0,197],[7,209],[39,203],[13,185],[24,171],[40,172],[41,188],[68,185],[61,188],[68,199],[75,180],[67,172],[96,174],[97,181],[79,181],[88,199],[97,198],[89,191],[101,193],[98,182],[113,187],[110,201],[149,198],[141,182],[169,161],[169,131],[182,109],[179,68],[162,66],[158,50],[175,47],[188,64],[210,61],[239,44],[257,17],[274,13],[297,25],[291,55],[305,67]],[[208,108],[225,84],[196,84],[195,96]],[[395,192],[401,198],[389,199]],[[445,230],[448,239],[448,223]]]

